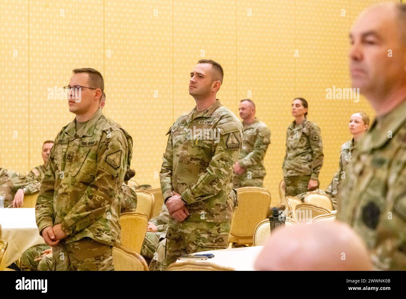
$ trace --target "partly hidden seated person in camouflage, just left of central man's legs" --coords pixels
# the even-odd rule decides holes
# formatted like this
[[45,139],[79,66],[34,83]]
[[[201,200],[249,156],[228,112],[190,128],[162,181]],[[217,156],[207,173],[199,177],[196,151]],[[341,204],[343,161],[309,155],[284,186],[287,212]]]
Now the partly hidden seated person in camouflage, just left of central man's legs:
[[160,243],[163,242],[165,245],[168,222],[169,212],[165,204],[162,205],[159,215],[151,218],[148,222],[147,234],[145,235],[144,243],[141,247],[141,255],[147,259],[151,259],[149,266],[151,271],[160,268],[161,264],[163,265],[162,270],[165,270],[165,250],[163,250],[163,252],[162,250],[157,252],[157,249]]

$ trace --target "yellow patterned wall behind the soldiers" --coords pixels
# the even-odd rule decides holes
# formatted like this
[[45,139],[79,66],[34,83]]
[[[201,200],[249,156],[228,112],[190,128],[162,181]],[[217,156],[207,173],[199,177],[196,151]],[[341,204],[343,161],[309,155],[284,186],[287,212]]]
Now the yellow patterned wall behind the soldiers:
[[133,136],[136,179],[158,187],[164,135],[194,106],[190,70],[211,58],[225,70],[222,104],[238,113],[239,100],[251,98],[271,129],[265,186],[272,201],[279,200],[290,104],[298,96],[322,130],[326,188],[351,138],[350,115],[374,117],[362,97],[327,100],[326,89],[350,87],[348,31],[375,2],[1,0],[0,165],[29,171],[41,164],[42,141],[74,117],[50,89],[67,85],[73,68],[93,67],[105,79],[104,113]]

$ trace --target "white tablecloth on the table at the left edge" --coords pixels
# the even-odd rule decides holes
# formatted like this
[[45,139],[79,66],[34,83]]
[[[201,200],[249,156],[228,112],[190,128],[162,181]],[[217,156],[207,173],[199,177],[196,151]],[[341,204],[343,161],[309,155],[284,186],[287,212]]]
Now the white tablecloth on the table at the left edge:
[[8,267],[18,260],[26,249],[45,245],[35,223],[34,208],[0,209],[0,225],[2,227],[1,238],[9,243],[6,255],[2,260],[2,267]]

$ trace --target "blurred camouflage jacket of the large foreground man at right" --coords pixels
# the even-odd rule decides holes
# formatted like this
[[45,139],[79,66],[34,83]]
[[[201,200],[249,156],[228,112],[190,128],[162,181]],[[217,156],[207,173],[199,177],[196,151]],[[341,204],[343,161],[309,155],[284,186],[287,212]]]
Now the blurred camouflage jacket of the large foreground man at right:
[[338,204],[337,219],[363,238],[376,269],[406,270],[406,100],[359,141]]

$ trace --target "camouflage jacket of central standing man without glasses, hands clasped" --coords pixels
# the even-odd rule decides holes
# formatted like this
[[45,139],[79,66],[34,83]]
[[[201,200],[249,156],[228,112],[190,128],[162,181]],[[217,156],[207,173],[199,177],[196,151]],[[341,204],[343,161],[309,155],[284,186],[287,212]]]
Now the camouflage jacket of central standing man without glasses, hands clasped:
[[233,167],[242,147],[241,121],[217,100],[194,117],[179,117],[168,133],[160,171],[166,200],[181,194],[190,216],[185,221],[231,221]]

